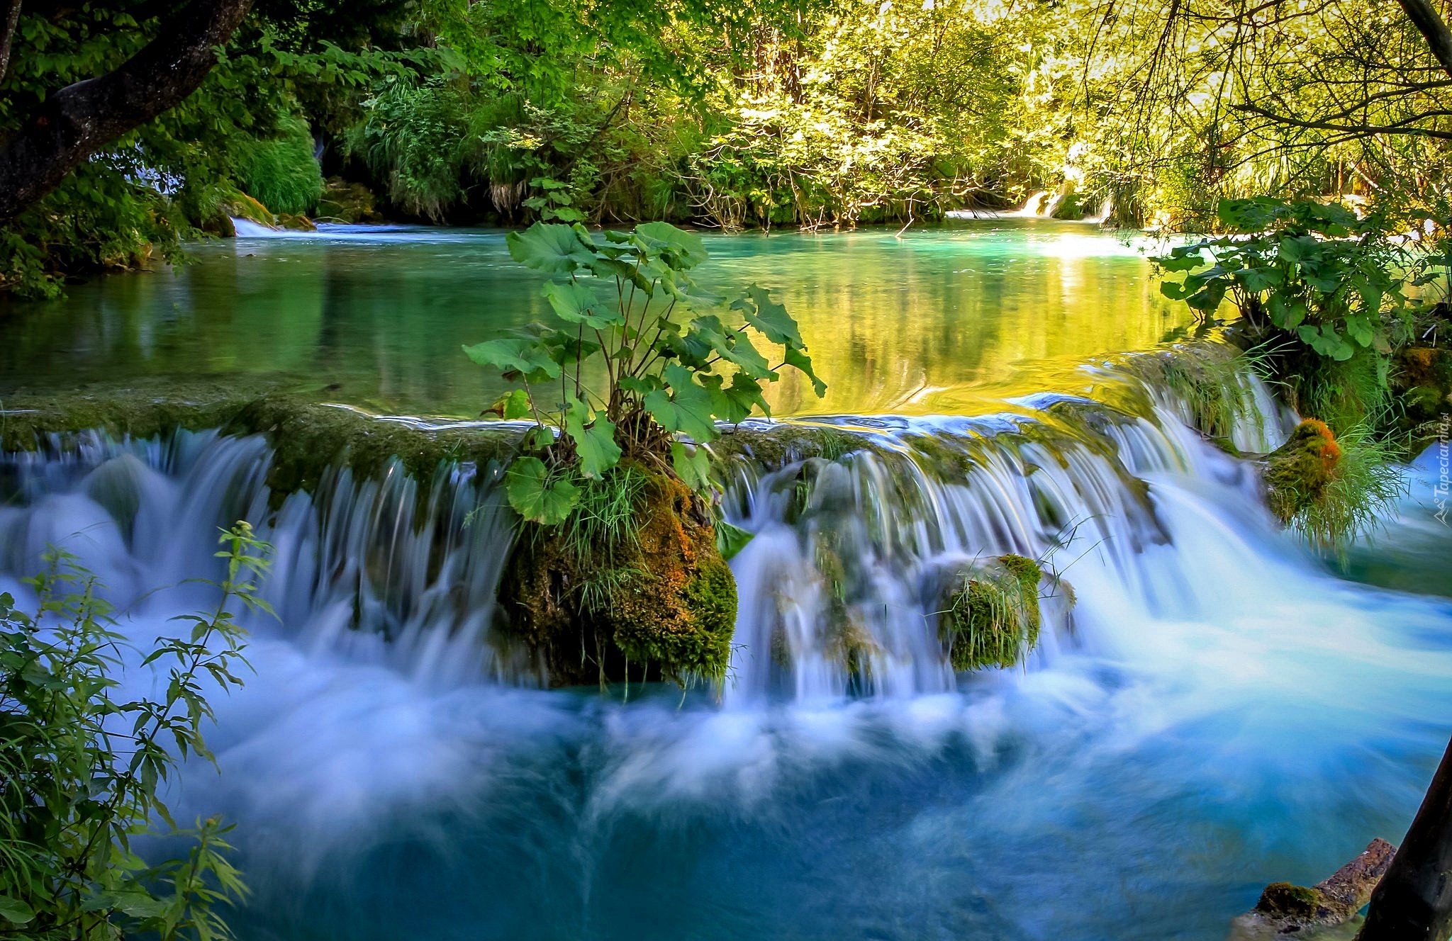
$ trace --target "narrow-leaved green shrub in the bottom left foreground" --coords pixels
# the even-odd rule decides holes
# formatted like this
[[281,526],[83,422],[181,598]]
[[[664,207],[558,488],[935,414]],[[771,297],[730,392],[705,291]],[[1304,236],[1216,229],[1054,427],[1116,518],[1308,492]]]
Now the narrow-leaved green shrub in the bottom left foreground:
[[[0,594],[0,938],[228,938],[218,905],[245,895],[218,818],[180,828],[161,800],[179,761],[213,761],[202,683],[235,687],[244,632],[229,607],[264,608],[253,578],[266,546],[245,523],[224,533],[216,606],[180,619],[144,664],[170,664],[166,694],[118,697],[125,637],[94,577],[60,550],[32,579],[33,614]],[[176,749],[176,751],[168,751]],[[132,839],[187,839],[186,857],[142,860]]]

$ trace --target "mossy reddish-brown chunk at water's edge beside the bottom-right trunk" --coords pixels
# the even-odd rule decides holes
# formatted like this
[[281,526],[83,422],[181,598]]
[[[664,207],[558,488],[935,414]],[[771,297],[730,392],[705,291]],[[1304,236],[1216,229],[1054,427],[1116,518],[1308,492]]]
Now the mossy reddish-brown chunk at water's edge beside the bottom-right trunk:
[[1395,855],[1397,848],[1390,842],[1374,839],[1355,860],[1314,886],[1270,883],[1256,908],[1231,922],[1231,940],[1304,938],[1314,937],[1316,929],[1340,925],[1371,900]]

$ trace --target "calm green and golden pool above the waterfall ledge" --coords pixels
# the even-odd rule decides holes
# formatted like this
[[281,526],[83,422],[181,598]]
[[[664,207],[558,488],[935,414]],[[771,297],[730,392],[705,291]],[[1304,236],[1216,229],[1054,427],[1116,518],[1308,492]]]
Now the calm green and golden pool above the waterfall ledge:
[[[707,235],[703,280],[756,282],[802,322],[825,401],[780,414],[982,410],[1183,325],[1143,257],[1041,219],[823,235]],[[270,375],[385,412],[475,415],[502,389],[460,344],[543,317],[502,231],[331,228],[200,245],[195,264],[0,305],[0,391],[131,376]]]

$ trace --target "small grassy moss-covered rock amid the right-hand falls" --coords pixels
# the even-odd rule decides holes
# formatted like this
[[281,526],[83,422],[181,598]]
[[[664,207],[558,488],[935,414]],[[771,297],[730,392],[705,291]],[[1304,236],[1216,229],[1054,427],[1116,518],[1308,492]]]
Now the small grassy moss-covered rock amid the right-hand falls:
[[1005,555],[954,572],[945,582],[938,636],[955,671],[1016,667],[1038,643],[1038,582],[1032,559]]

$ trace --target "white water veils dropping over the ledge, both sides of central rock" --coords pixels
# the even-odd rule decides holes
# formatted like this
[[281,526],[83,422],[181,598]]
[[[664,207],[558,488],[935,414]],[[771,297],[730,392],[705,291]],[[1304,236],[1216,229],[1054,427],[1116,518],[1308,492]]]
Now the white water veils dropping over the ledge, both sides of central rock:
[[[976,559],[1016,553],[1054,572],[1093,553],[1127,585],[1150,591],[1140,556],[1169,540],[1153,481],[1211,478],[1247,502],[1256,484],[1186,424],[1195,415],[1175,389],[1131,373],[1090,370],[1101,388],[1135,394],[1134,411],[1035,396],[1000,415],[823,420],[857,446],[835,460],[771,468],[730,459],[726,517],[754,539],[733,561],[739,617],[726,701],[954,688],[932,587]],[[1282,420],[1265,386],[1224,380],[1243,402],[1234,444],[1272,449]],[[279,505],[267,489],[272,459],[261,437],[216,431],[166,440],[96,431],[9,455],[0,572],[33,572],[45,547],[60,545],[102,577],[121,607],[160,610],[196,588],[152,592],[212,575],[218,529],[247,518],[273,545],[266,598],[303,649],[428,683],[547,683],[495,604],[511,543],[497,470],[449,465],[415,479],[393,462],[375,479],[356,479],[340,465],[314,492]],[[1079,642],[1074,578],[1043,592],[1038,664]]]

